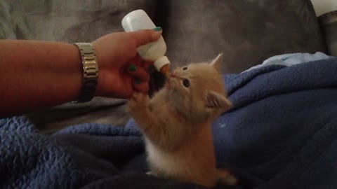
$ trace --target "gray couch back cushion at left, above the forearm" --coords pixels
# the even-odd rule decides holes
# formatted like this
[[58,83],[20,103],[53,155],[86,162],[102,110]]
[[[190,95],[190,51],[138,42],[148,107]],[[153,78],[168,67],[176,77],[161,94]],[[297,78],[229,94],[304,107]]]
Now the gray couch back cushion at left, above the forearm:
[[121,19],[141,8],[154,15],[157,0],[0,1],[0,38],[90,42],[122,31]]

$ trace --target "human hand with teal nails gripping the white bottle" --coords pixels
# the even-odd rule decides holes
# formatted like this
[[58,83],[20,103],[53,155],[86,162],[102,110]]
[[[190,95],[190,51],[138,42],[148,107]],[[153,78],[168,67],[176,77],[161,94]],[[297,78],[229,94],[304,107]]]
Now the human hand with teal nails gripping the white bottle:
[[160,36],[161,31],[145,29],[107,34],[93,41],[99,67],[95,95],[129,98],[134,90],[146,94],[150,80],[147,71],[152,62],[143,61],[137,48],[157,41]]

